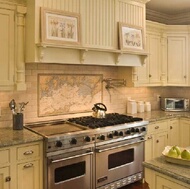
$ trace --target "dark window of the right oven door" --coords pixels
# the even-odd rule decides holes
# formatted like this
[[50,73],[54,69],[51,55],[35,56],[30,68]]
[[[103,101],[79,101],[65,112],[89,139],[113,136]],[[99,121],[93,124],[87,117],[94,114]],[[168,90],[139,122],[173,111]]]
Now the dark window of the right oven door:
[[113,169],[134,161],[134,148],[120,151],[108,156],[108,169]]

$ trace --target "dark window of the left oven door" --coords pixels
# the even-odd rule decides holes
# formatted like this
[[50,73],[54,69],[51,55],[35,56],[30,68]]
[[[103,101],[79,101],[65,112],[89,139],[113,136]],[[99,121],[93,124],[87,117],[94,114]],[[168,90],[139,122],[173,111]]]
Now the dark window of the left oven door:
[[66,181],[85,174],[85,161],[55,169],[55,183]]

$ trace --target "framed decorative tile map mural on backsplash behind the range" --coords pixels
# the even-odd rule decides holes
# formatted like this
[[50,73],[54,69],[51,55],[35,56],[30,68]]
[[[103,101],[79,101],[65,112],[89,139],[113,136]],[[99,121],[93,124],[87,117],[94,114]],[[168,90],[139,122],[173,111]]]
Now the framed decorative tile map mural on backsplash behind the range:
[[92,111],[102,102],[103,75],[39,74],[38,116]]

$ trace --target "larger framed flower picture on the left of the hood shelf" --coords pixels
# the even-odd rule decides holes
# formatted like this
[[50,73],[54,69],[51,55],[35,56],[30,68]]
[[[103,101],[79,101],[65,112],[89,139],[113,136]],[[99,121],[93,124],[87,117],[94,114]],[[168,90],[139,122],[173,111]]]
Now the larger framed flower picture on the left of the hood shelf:
[[80,15],[41,8],[42,43],[80,44]]

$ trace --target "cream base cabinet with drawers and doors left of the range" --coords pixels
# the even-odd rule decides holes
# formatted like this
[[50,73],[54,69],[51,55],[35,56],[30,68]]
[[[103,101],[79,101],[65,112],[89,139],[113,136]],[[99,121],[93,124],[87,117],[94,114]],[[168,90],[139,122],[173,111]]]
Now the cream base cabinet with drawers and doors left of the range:
[[42,145],[41,141],[0,149],[0,184],[3,189],[43,188]]

